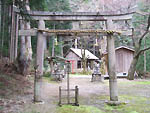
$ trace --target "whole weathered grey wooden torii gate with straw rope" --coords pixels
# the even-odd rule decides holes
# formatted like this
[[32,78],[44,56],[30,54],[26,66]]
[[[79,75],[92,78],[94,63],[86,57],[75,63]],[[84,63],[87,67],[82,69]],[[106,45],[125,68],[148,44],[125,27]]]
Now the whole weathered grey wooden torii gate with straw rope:
[[[107,30],[82,30],[81,33],[99,33],[107,36],[107,47],[108,47],[108,74],[109,74],[109,89],[110,89],[110,100],[118,101],[118,89],[117,89],[117,76],[115,69],[115,45],[113,34],[120,34],[120,32],[113,31],[114,24],[113,21],[126,21],[131,20],[134,12],[126,14],[106,14],[100,12],[67,12],[67,13],[58,13],[58,12],[43,12],[43,11],[29,11],[28,14],[38,21],[38,29],[28,29],[28,30],[19,30],[20,36],[36,36],[37,35],[37,53],[42,51],[42,53],[37,54],[36,56],[36,65],[39,65],[38,72],[40,76],[43,74],[43,55],[44,55],[44,37],[46,35],[52,35],[54,33],[66,34],[66,33],[76,33],[76,30],[46,30],[45,29],[45,20],[48,21],[106,21]],[[129,35],[131,32],[125,34]],[[38,81],[41,81],[39,77]],[[40,95],[38,95],[41,89],[37,89],[37,98],[35,101],[40,101]]]

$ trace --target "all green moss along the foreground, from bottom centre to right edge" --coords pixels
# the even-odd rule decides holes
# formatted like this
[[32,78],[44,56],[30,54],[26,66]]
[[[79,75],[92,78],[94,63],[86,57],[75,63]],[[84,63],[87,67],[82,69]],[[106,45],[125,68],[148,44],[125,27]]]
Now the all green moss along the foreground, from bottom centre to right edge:
[[[106,99],[108,96],[99,96],[97,99]],[[119,106],[105,104],[101,110],[93,106],[70,106],[64,105],[57,108],[56,113],[150,113],[150,99],[140,96],[121,95],[119,100],[127,102]]]

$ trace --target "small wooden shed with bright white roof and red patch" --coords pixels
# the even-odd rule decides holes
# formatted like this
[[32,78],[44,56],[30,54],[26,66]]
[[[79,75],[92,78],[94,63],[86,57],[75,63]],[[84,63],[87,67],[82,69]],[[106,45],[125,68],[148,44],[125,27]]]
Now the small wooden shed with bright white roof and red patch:
[[[90,51],[85,50],[85,57],[87,58],[87,64],[92,68],[93,61],[99,60],[94,54]],[[66,54],[65,58],[71,63],[71,72],[81,72],[82,71],[82,55],[81,49],[70,48],[69,52]]]

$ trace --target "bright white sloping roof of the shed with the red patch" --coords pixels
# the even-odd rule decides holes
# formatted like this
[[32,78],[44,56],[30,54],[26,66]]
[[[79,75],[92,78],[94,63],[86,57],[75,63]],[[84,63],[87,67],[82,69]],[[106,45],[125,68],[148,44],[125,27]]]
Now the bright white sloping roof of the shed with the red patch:
[[[79,56],[80,58],[82,58],[81,49],[70,48],[70,50],[72,52],[74,52],[77,56]],[[85,57],[88,58],[88,59],[90,59],[90,60],[98,60],[99,59],[98,57],[96,57],[94,54],[92,54],[88,50],[85,50]]]

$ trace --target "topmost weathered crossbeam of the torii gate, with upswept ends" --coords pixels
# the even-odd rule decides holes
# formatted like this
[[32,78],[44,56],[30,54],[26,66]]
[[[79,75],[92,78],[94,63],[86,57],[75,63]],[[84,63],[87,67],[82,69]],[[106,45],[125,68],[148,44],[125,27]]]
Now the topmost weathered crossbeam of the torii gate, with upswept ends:
[[[106,21],[111,20],[130,20],[134,12],[124,14],[108,14],[106,12],[47,12],[47,11],[28,11],[28,14],[35,20],[50,21]],[[27,15],[27,14],[25,14]]]

